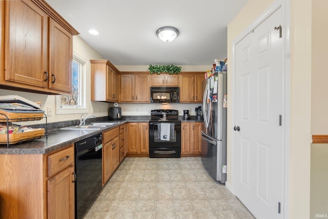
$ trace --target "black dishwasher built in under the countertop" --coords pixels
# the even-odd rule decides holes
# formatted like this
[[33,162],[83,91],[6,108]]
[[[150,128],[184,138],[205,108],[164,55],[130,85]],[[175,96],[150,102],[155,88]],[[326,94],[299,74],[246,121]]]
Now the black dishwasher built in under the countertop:
[[75,218],[90,209],[102,187],[103,134],[75,143]]

